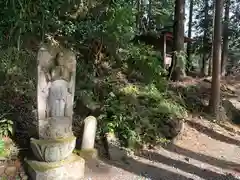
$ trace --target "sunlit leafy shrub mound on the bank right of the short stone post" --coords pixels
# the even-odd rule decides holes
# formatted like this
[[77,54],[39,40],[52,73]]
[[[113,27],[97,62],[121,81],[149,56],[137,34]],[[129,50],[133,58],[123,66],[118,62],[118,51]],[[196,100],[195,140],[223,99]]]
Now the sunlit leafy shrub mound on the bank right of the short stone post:
[[[102,131],[114,132],[128,146],[161,142],[164,124],[182,118],[186,111],[154,84],[127,85],[111,92],[102,114]],[[169,137],[167,137],[169,138]]]

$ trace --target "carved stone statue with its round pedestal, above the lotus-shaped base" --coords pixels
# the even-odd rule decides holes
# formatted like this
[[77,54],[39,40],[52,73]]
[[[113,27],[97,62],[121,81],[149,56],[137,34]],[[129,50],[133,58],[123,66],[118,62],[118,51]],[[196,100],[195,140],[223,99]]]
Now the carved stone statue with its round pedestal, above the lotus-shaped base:
[[[71,51],[48,51],[42,47],[38,53],[38,118],[40,138],[64,137],[72,127],[76,60]],[[57,125],[56,117],[61,119]],[[55,123],[54,123],[55,122]],[[55,124],[54,127],[52,124]],[[58,122],[58,124],[60,124]],[[64,135],[57,135],[53,133]],[[60,129],[59,129],[60,128]],[[51,129],[51,131],[49,130]],[[52,134],[52,135],[50,135]]]

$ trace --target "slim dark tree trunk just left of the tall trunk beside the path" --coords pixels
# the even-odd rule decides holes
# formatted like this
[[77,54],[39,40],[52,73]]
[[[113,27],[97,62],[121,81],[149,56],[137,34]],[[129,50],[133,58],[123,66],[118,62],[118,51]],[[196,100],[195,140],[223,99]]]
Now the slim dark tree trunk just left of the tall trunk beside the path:
[[204,5],[204,34],[203,34],[203,50],[204,54],[202,57],[202,68],[201,68],[201,74],[202,76],[205,76],[206,74],[206,64],[207,64],[207,57],[208,57],[208,38],[209,38],[209,4],[208,0],[205,0],[205,5]]

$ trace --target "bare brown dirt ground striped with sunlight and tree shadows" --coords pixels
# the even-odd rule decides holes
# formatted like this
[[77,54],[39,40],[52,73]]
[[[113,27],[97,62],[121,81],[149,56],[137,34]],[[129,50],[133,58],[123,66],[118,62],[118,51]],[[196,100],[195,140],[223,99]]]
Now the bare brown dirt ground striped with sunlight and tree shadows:
[[[198,97],[209,97],[209,79],[190,78],[181,83],[189,85],[201,89]],[[222,81],[221,89],[224,97],[237,98],[238,80]],[[239,132],[240,126],[229,121],[216,123],[201,113],[192,113],[172,143],[143,149],[122,161],[103,158],[88,162],[85,180],[237,180],[240,179]]]

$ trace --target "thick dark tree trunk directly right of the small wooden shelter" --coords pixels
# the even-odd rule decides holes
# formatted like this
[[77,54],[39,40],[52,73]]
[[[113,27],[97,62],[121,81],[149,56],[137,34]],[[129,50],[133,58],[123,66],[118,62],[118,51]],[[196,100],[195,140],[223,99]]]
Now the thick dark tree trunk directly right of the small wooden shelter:
[[185,76],[184,65],[184,17],[185,17],[185,0],[175,0],[174,14],[174,41],[173,41],[173,65],[171,79],[179,81]]

